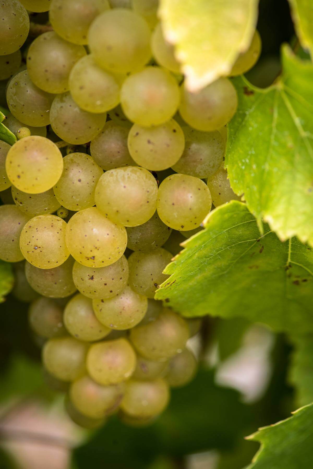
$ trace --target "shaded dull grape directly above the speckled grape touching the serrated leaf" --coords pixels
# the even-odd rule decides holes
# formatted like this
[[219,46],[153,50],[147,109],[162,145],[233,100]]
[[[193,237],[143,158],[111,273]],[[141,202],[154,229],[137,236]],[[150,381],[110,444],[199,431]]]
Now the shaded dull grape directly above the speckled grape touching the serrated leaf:
[[200,179],[212,176],[221,166],[225,145],[220,132],[199,132],[185,127],[185,149],[172,168],[176,173],[188,174]]

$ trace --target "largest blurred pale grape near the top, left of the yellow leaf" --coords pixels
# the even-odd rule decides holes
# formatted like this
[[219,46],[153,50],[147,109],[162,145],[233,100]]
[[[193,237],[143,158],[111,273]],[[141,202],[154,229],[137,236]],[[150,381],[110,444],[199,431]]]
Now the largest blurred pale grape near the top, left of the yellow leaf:
[[88,32],[88,45],[100,67],[133,72],[150,59],[150,30],[136,13],[116,8],[99,15]]

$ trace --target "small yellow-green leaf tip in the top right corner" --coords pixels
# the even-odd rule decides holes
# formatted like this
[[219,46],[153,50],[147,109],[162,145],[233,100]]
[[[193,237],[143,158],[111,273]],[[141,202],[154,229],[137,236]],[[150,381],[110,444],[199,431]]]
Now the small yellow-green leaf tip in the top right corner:
[[313,3],[312,0],[289,0],[291,15],[297,36],[303,47],[313,52]]

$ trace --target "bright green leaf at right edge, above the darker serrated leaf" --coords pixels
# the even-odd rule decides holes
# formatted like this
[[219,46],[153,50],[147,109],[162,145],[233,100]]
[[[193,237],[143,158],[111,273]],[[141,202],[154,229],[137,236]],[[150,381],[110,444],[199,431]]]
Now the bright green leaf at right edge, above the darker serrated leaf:
[[313,244],[313,64],[284,46],[282,69],[265,90],[234,79],[239,104],[225,165],[260,226],[263,218],[282,241]]

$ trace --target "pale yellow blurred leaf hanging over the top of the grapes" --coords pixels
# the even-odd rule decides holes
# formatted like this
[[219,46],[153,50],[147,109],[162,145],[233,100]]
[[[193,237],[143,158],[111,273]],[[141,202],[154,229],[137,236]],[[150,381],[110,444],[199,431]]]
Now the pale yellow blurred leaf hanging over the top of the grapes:
[[160,0],[159,16],[191,91],[228,75],[250,45],[258,0]]

